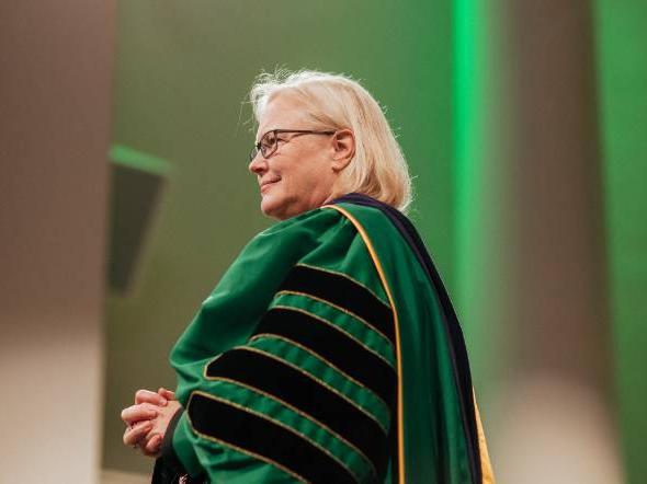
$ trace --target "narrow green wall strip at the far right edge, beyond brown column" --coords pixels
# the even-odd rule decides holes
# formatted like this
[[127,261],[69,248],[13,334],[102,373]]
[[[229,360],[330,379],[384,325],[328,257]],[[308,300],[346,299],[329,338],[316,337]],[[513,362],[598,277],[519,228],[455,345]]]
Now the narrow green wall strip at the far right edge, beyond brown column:
[[615,382],[627,482],[638,484],[647,475],[647,2],[595,8]]

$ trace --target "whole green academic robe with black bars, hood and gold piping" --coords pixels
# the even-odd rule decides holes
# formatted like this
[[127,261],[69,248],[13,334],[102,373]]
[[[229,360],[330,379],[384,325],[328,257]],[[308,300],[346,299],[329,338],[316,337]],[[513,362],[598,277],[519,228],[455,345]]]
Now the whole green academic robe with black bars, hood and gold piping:
[[257,235],[171,365],[164,452],[192,476],[493,482],[446,292],[408,220],[366,196]]

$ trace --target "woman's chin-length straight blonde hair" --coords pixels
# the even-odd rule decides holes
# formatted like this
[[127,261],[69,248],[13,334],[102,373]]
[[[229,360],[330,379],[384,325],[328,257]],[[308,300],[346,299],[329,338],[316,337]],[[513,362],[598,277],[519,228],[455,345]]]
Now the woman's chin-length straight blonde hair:
[[334,196],[356,192],[406,211],[411,203],[407,161],[377,101],[343,74],[284,69],[263,72],[250,101],[257,122],[272,97],[288,93],[303,103],[317,129],[351,129],[355,153],[334,186]]

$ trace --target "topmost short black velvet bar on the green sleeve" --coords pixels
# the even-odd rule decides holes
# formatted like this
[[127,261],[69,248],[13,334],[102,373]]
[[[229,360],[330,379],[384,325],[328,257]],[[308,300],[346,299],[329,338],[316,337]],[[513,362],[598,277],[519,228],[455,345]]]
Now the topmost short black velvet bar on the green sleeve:
[[295,266],[280,290],[304,292],[359,315],[395,344],[393,311],[368,289],[339,274]]

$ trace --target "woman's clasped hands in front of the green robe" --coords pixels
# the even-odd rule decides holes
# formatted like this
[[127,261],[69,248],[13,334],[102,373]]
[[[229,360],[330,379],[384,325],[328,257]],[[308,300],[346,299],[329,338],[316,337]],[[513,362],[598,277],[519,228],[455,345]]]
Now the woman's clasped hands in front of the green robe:
[[170,390],[160,388],[157,393],[137,390],[135,404],[122,411],[122,420],[126,424],[124,445],[139,448],[144,456],[159,457],[169,423],[180,407]]

